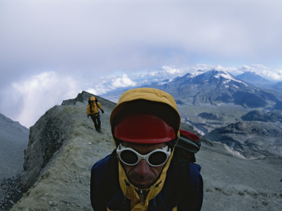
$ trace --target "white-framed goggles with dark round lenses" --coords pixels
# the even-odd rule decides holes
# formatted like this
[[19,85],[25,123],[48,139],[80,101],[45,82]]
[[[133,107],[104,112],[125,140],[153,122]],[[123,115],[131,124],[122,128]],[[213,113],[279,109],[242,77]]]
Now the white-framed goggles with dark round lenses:
[[126,165],[137,165],[140,160],[144,159],[152,167],[158,167],[166,163],[169,155],[171,155],[171,148],[164,146],[163,148],[157,148],[149,152],[147,155],[141,155],[133,148],[119,144],[116,153],[118,154],[118,158]]

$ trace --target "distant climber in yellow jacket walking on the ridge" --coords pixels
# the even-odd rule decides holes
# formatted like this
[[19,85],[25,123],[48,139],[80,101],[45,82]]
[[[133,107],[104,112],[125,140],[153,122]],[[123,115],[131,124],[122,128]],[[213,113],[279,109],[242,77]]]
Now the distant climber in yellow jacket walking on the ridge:
[[87,116],[90,116],[92,118],[92,121],[94,122],[94,127],[97,132],[101,132],[101,120],[98,108],[102,111],[102,113],[104,113],[104,110],[101,104],[98,102],[98,99],[94,96],[90,97],[87,106]]

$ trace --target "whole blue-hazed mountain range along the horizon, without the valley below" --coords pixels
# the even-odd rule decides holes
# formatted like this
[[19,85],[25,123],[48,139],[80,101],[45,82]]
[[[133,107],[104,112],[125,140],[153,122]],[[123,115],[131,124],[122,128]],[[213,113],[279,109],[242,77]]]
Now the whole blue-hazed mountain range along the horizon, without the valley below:
[[[282,109],[281,107],[281,83],[267,83],[268,80],[256,75],[254,72],[245,72],[235,77],[227,71],[198,70],[187,73],[175,79],[166,79],[161,82],[151,82],[142,87],[162,89],[172,94],[178,104],[209,103],[235,103],[247,108]],[[257,84],[267,84],[258,87]],[[128,87],[130,89],[132,87]],[[117,101],[126,89],[111,91],[102,94],[104,98]]]

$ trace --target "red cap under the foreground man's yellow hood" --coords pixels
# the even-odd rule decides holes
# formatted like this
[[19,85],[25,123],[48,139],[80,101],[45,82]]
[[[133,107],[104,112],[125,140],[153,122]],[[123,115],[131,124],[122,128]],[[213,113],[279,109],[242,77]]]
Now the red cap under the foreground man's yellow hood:
[[132,143],[164,143],[175,139],[176,132],[160,117],[135,113],[114,126],[114,136]]

